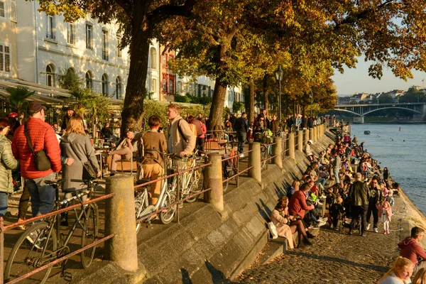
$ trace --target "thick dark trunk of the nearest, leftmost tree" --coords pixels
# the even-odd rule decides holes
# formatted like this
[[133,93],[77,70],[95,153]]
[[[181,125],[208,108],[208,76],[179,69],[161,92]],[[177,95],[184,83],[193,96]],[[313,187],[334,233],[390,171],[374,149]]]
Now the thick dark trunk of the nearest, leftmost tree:
[[[141,130],[143,119],[143,96],[146,94],[146,76],[148,73],[148,54],[151,29],[147,28],[146,15],[148,5],[145,1],[135,1],[131,35],[131,54],[129,77],[127,79],[126,97],[121,112],[121,137],[126,136],[128,128]],[[136,48],[137,47],[137,48]]]

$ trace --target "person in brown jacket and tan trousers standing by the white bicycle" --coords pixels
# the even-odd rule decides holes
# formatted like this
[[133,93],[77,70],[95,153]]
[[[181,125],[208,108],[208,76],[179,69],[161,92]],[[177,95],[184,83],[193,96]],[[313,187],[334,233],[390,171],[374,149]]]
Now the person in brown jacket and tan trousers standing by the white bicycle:
[[[143,134],[143,148],[145,149],[142,157],[143,178],[158,179],[164,173],[163,155],[156,150],[166,153],[167,142],[163,133],[158,131],[161,126],[160,116],[150,116],[148,119],[149,130]],[[155,205],[160,197],[161,185],[163,181],[151,183],[151,204]]]

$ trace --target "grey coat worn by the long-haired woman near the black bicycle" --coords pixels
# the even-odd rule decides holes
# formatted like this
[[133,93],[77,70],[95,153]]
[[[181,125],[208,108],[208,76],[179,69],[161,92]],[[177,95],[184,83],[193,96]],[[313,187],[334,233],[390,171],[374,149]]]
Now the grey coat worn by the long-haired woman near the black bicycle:
[[[75,151],[72,150],[70,143],[75,148]],[[93,168],[96,172],[99,172],[99,164],[96,156],[94,155],[94,148],[88,136],[70,133],[67,136],[60,138],[60,150],[63,158],[73,158],[74,163],[72,165],[62,165],[62,178],[65,178],[65,183],[63,188],[67,189],[80,189],[82,188],[82,182],[71,182],[72,179],[81,180],[83,176],[83,163],[86,163],[87,160],[90,160],[90,163],[93,165]],[[64,159],[64,161],[66,161]]]

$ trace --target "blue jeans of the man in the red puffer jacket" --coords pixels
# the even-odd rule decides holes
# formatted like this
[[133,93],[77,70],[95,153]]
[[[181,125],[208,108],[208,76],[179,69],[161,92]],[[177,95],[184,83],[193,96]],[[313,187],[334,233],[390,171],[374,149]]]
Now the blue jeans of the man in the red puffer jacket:
[[45,180],[54,180],[55,173],[43,178],[25,179],[31,195],[31,213],[33,217],[52,211],[55,206],[55,189],[45,184]]

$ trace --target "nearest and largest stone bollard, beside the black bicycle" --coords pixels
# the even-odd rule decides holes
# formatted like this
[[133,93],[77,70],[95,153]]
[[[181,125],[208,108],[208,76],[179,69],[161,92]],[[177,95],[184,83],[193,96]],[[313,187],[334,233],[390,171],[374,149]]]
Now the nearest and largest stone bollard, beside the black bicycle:
[[136,271],[138,246],[133,177],[126,175],[107,178],[105,193],[114,193],[105,202],[105,235],[114,234],[105,244],[107,259],[125,271]]

